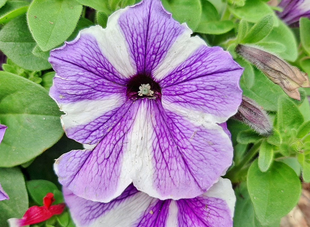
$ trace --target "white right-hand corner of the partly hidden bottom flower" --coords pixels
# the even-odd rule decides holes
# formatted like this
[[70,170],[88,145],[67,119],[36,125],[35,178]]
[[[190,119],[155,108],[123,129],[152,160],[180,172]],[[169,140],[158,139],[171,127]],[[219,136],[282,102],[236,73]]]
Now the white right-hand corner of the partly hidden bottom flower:
[[207,197],[211,197],[211,198],[219,198],[219,199],[224,200],[230,209],[231,217],[233,216],[234,209],[235,209],[235,203],[236,203],[236,196],[232,189],[232,184],[230,180],[220,177],[219,181],[216,182],[203,195]]

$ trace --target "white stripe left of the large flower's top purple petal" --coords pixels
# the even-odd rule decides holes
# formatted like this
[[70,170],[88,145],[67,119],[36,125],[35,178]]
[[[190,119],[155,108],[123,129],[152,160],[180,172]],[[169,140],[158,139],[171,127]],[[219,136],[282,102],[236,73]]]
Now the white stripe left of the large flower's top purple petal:
[[95,37],[102,54],[125,78],[129,78],[137,73],[136,65],[134,62],[131,62],[130,53],[127,51],[128,44],[118,24],[118,18],[127,9],[126,7],[125,9],[118,10],[109,16],[106,29],[96,25],[81,31],[81,35],[89,34]]

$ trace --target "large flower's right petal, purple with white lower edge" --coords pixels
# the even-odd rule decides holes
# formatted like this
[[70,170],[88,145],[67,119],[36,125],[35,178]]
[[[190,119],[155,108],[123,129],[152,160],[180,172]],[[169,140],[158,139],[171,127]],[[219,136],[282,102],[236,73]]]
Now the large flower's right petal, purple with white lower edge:
[[165,109],[221,123],[237,112],[242,68],[220,47],[201,46],[159,82]]

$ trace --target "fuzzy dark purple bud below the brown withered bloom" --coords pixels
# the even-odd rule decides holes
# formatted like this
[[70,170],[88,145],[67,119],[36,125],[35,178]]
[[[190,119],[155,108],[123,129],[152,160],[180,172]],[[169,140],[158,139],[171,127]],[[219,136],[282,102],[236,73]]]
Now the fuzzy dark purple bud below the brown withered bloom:
[[255,101],[244,95],[242,95],[238,112],[232,116],[232,119],[245,123],[260,135],[267,136],[272,131],[270,119],[266,111]]

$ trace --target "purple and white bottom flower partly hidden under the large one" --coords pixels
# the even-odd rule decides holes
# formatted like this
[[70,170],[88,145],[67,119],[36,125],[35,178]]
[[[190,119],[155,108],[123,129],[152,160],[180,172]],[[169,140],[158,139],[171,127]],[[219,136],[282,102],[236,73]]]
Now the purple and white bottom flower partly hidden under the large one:
[[220,178],[196,198],[159,200],[133,185],[110,203],[80,198],[63,189],[77,227],[231,227],[236,197],[228,179]]

